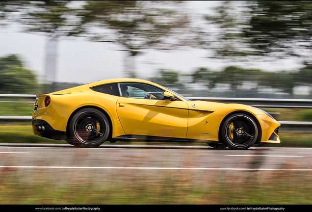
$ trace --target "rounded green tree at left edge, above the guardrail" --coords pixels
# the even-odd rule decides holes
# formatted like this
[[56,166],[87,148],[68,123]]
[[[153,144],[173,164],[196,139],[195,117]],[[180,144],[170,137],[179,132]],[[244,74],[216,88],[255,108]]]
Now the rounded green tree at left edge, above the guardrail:
[[29,94],[36,92],[35,75],[23,67],[23,62],[15,55],[0,57],[0,92]]

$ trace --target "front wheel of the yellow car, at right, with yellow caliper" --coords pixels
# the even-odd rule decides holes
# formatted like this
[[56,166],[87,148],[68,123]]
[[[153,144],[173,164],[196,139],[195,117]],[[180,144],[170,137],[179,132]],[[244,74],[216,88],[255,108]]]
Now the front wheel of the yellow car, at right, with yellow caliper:
[[246,150],[257,140],[259,129],[249,115],[235,113],[222,124],[221,136],[229,149]]

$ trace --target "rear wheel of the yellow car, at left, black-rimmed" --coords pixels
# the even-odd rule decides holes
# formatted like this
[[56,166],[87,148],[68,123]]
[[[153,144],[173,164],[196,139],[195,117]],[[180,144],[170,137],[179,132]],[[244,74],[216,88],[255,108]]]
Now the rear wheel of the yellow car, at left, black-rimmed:
[[73,116],[69,132],[68,143],[77,147],[98,147],[108,138],[109,121],[100,110],[84,108]]

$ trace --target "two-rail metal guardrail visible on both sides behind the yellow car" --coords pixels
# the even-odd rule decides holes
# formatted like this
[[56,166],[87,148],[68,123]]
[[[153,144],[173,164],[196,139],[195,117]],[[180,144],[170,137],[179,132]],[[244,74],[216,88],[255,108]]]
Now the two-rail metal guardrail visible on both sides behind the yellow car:
[[[188,97],[192,100],[238,103],[267,108],[312,108],[311,99],[264,99],[264,98],[222,98],[222,97]],[[15,101],[11,101],[11,100]],[[34,103],[36,95],[32,94],[0,94],[0,102],[30,102]],[[4,101],[3,101],[4,100]],[[31,122],[31,116],[0,116],[0,121]],[[312,127],[309,121],[279,121],[287,127]]]

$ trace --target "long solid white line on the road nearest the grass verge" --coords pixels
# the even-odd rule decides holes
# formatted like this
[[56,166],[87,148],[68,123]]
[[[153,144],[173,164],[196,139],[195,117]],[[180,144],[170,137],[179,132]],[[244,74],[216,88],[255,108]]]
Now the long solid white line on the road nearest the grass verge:
[[101,167],[101,166],[0,166],[0,168],[67,168],[67,169],[172,169],[172,170],[259,170],[259,171],[312,171],[312,169],[265,169],[265,168],[178,168],[178,167]]

